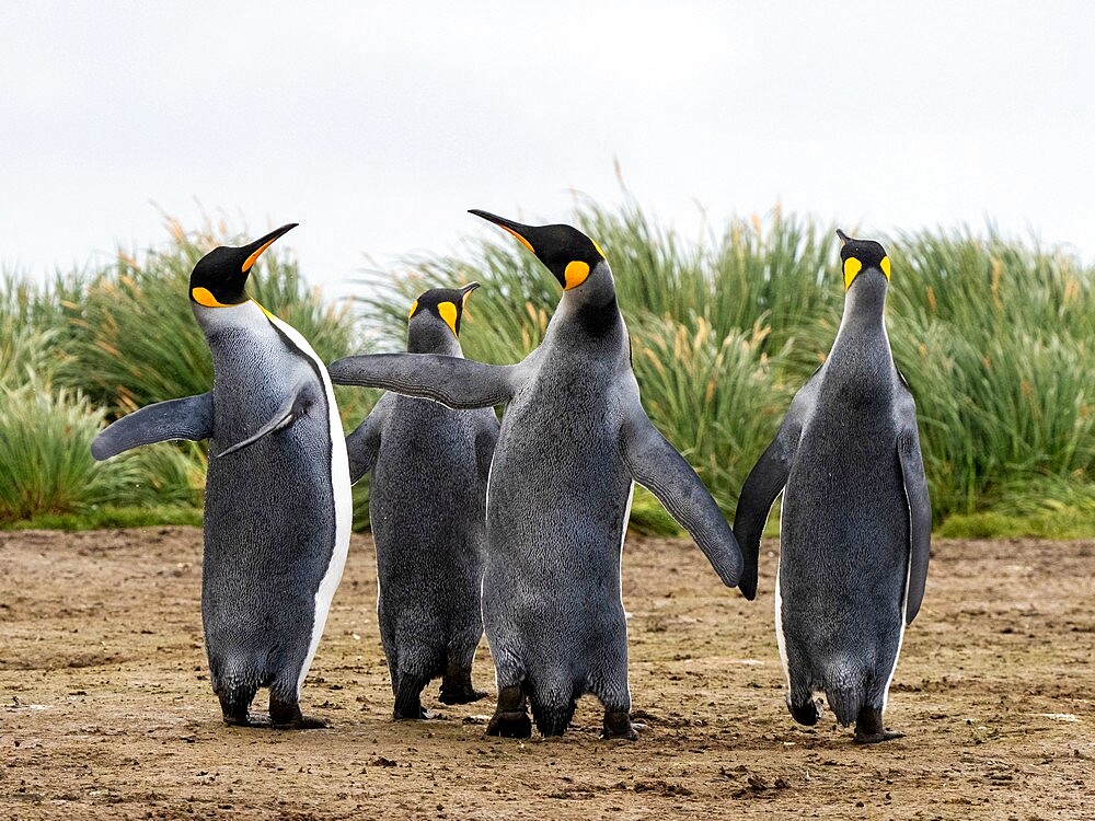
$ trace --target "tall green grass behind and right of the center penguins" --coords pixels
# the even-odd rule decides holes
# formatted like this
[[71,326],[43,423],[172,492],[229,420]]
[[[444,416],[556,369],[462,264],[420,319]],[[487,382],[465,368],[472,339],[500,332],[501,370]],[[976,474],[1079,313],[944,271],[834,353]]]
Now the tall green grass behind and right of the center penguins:
[[[834,227],[773,210],[683,242],[634,204],[573,219],[604,248],[644,405],[727,512],[791,396],[823,361],[843,307]],[[845,227],[851,228],[851,227]],[[1052,510],[1047,487],[1095,484],[1095,271],[1059,250],[969,231],[879,238],[894,264],[888,322],[918,400],[936,521]],[[362,284],[362,321],[402,345],[428,287],[479,280],[461,343],[522,358],[560,298],[508,236],[461,258]],[[1057,496],[1060,496],[1058,493]]]

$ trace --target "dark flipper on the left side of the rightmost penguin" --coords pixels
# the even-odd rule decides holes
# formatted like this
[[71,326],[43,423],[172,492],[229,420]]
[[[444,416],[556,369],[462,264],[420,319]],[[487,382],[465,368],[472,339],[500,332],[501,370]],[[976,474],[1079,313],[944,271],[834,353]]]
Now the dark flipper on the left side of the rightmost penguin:
[[757,595],[757,566],[764,524],[768,522],[772,505],[787,484],[791,464],[795,460],[798,440],[802,437],[803,424],[814,409],[818,384],[818,371],[815,371],[814,377],[795,395],[775,439],[757,460],[738,495],[738,506],[734,512],[734,535],[741,545],[745,558],[739,587],[741,593],[750,601]]

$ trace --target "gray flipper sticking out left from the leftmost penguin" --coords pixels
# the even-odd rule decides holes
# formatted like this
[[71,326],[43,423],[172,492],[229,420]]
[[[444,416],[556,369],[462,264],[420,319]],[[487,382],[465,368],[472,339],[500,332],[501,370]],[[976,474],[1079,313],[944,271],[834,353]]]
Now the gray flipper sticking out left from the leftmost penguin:
[[198,441],[212,436],[212,393],[158,402],[107,426],[91,443],[96,461],[142,444],[171,439]]

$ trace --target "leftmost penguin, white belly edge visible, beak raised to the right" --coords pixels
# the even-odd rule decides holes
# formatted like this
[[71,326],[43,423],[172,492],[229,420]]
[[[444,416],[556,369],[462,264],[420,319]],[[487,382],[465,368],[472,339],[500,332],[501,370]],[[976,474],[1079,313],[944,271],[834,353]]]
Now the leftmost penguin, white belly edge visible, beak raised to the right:
[[244,290],[258,256],[295,224],[218,247],[191,275],[212,354],[208,393],[143,407],[91,446],[108,459],[169,439],[209,439],[201,617],[212,689],[247,725],[258,687],[270,722],[311,728],[300,689],[342,578],[353,516],[342,423],[326,369],[304,338]]

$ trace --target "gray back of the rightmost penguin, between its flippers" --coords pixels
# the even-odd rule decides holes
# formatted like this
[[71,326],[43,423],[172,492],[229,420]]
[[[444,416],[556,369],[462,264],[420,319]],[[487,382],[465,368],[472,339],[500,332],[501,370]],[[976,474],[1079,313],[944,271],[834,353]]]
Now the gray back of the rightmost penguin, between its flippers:
[[830,701],[879,668],[891,672],[909,569],[899,377],[885,332],[841,334],[787,478],[779,578],[781,648]]

